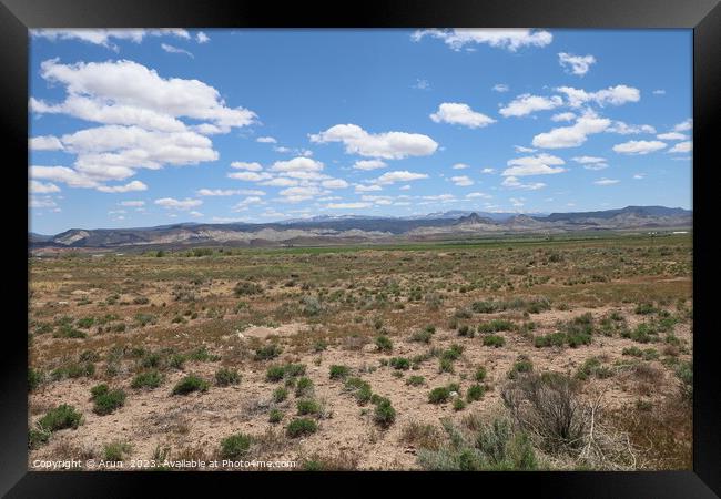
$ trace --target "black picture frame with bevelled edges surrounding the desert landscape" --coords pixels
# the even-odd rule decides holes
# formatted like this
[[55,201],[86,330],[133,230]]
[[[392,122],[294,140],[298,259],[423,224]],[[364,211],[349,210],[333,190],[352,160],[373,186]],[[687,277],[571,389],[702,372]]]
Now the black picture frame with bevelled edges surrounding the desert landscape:
[[[715,356],[718,332],[712,327],[713,275],[718,258],[711,248],[713,237],[713,189],[711,171],[713,136],[718,136],[721,115],[721,4],[718,0],[365,0],[363,2],[261,2],[246,0],[0,0],[0,130],[4,144],[4,173],[9,184],[27,185],[28,145],[28,29],[32,28],[690,28],[693,29],[693,295],[694,295],[694,400],[693,470],[636,472],[353,472],[353,473],[150,473],[150,472],[40,472],[27,470],[27,294],[23,273],[16,258],[27,258],[24,237],[28,212],[14,196],[3,196],[6,216],[13,231],[7,235],[6,267],[14,269],[12,291],[3,301],[6,316],[17,318],[14,327],[2,327],[0,361],[0,493],[8,497],[128,497],[150,493],[155,487],[173,488],[201,483],[200,490],[213,493],[252,481],[266,493],[280,492],[277,483],[288,480],[305,493],[345,493],[338,480],[352,480],[355,492],[376,493],[377,480],[403,478],[414,487],[441,490],[466,486],[463,493],[505,496],[521,489],[532,497],[653,497],[708,498],[721,495],[721,431],[718,408],[721,389]],[[714,134],[715,132],[715,134]],[[10,154],[8,154],[10,153]],[[24,160],[23,160],[24,159]],[[24,213],[24,215],[23,215]],[[10,244],[17,241],[17,245]],[[12,248],[12,249],[11,249]],[[17,253],[16,253],[17,252]],[[21,256],[22,252],[22,256]],[[708,293],[703,291],[708,289]],[[27,288],[26,288],[27,291]],[[26,303],[23,303],[26,302]],[[410,479],[408,479],[410,478]],[[150,483],[152,480],[154,483]],[[191,483],[193,480],[193,483]],[[464,483],[460,483],[463,481]],[[223,482],[221,485],[221,482]],[[491,488],[491,486],[494,486]],[[500,488],[498,488],[500,486]],[[345,487],[345,486],[344,486]],[[454,489],[448,489],[454,487]],[[389,491],[389,489],[387,489]],[[447,492],[446,492],[447,493]],[[495,492],[499,493],[499,492]]]

